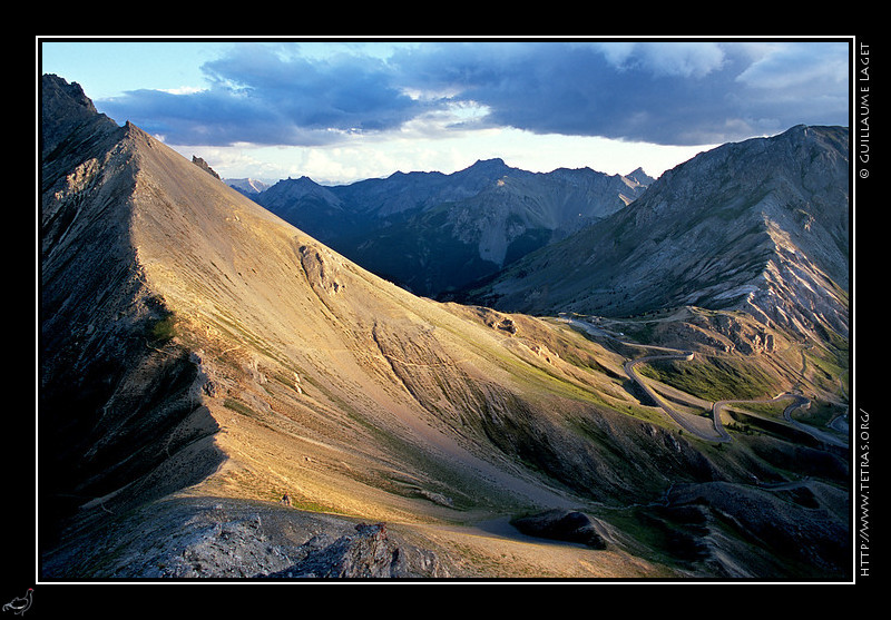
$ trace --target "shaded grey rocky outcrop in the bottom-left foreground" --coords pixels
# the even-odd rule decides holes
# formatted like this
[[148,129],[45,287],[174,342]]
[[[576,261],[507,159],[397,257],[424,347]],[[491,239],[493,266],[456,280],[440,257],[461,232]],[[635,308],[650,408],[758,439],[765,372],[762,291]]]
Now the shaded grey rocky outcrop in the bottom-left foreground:
[[451,560],[385,523],[354,523],[271,502],[177,499],[46,559],[56,577],[97,579],[404,579],[452,577]]

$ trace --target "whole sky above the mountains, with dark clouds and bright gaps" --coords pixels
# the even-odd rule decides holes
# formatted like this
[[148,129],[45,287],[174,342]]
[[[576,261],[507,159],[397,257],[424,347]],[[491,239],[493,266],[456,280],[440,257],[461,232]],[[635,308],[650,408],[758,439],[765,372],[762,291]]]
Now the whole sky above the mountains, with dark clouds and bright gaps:
[[726,141],[849,125],[849,41],[39,39],[80,83],[225,178],[349,183],[501,157],[658,176]]

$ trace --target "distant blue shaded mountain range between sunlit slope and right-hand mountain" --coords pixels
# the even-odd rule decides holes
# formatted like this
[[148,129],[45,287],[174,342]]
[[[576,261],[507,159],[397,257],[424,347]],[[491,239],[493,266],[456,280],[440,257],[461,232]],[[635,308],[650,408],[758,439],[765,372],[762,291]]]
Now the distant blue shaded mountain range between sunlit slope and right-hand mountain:
[[538,174],[490,159],[345,186],[286,179],[253,199],[376,275],[442,297],[619,210],[652,181],[639,168]]

